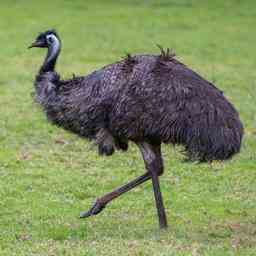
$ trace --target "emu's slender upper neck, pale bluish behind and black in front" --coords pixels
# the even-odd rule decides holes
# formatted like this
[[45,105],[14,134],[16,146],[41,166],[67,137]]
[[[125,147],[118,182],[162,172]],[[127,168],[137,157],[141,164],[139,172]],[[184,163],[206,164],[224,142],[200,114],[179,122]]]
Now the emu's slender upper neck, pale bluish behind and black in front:
[[57,58],[60,54],[60,42],[55,41],[48,47],[48,52],[45,57],[44,63],[40,69],[40,73],[54,71]]

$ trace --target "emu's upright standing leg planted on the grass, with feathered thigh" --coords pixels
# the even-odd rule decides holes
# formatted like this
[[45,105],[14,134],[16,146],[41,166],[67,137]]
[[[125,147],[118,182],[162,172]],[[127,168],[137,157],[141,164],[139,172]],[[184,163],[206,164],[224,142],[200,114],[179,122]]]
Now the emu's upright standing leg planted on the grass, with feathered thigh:
[[160,228],[167,228],[166,214],[158,178],[158,176],[163,173],[160,145],[153,146],[149,143],[143,142],[138,144],[138,146],[141,150],[145,166],[151,174]]

